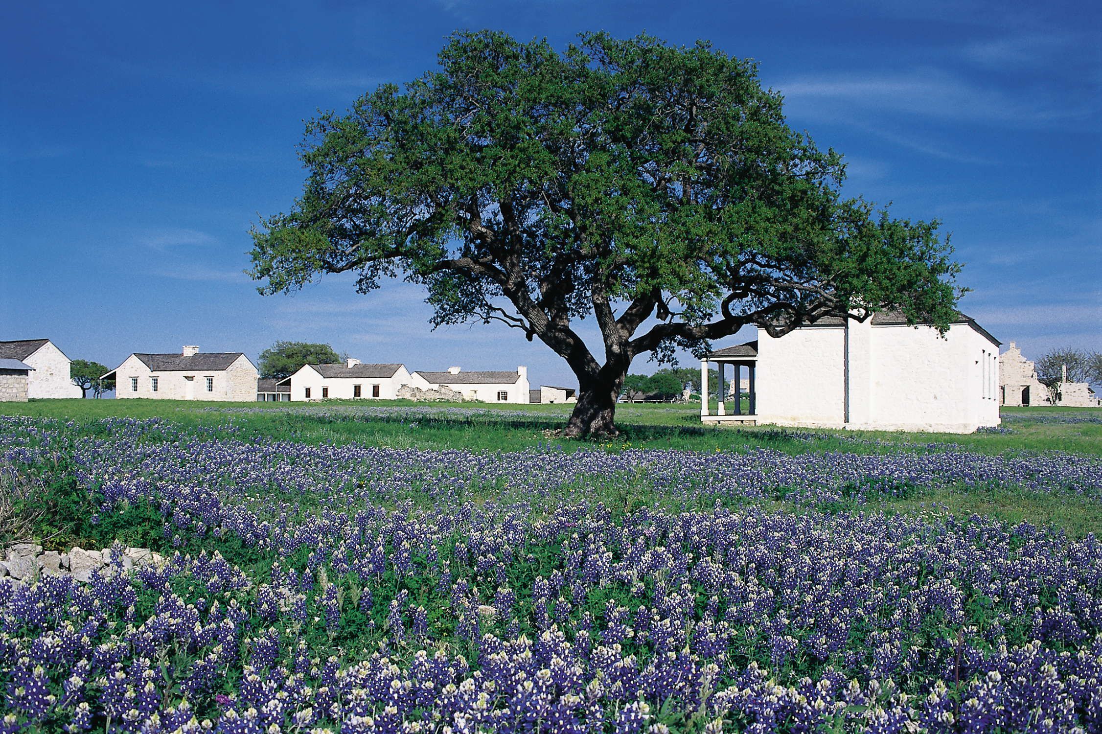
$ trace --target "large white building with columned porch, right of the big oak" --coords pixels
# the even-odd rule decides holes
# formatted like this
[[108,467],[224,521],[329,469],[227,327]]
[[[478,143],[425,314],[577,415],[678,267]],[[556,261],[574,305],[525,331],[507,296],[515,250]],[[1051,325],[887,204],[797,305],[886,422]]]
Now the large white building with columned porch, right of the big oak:
[[717,363],[724,385],[735,370],[739,381],[748,373],[748,413],[738,414],[735,401],[710,414],[705,395],[701,420],[971,433],[1000,423],[998,346],[963,314],[944,338],[932,326],[908,326],[898,313],[864,323],[823,319],[780,338],[759,331],[757,342],[701,363],[702,370]]

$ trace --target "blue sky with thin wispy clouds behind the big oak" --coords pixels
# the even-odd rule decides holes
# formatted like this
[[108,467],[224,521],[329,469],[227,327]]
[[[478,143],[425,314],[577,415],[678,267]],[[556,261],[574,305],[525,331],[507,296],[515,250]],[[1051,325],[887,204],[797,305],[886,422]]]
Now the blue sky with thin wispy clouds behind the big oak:
[[576,385],[516,331],[432,332],[400,281],[261,296],[241,272],[258,213],[301,191],[304,119],[489,28],[559,48],[646,31],[757,60],[789,125],[845,154],[846,194],[943,222],[965,313],[1027,357],[1102,349],[1100,19],[1088,2],[0,2],[0,339],[108,367],[325,342]]

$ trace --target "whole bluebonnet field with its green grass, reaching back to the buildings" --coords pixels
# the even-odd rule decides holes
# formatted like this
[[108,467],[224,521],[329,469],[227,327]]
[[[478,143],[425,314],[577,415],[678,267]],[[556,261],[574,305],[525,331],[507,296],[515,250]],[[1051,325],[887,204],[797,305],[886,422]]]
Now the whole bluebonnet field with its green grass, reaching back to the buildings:
[[[598,444],[176,410],[0,415],[6,532],[168,557],[0,580],[0,731],[1102,731],[1100,452],[1013,447],[1091,445],[1096,411]],[[984,497],[1008,515],[961,511]],[[1007,519],[1054,507],[1087,519]]]

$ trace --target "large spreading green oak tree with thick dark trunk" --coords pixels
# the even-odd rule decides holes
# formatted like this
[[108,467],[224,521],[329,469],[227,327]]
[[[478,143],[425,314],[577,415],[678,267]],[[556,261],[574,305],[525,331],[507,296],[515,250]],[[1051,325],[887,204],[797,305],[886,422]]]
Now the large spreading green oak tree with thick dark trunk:
[[[500,322],[566,360],[564,433],[616,432],[633,358],[755,324],[904,311],[940,330],[959,266],[938,223],[843,198],[845,166],[791,130],[750,61],[706,42],[455,33],[440,68],[306,126],[289,214],[253,228],[258,290],[404,277],[432,323]],[[592,317],[604,354],[574,330]]]

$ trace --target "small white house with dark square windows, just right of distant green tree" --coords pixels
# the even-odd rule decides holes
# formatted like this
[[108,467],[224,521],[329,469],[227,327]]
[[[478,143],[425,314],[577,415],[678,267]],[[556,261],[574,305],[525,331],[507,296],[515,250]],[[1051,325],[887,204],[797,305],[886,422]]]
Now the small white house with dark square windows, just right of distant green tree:
[[303,365],[294,375],[280,380],[278,387],[290,387],[291,400],[347,400],[367,398],[393,400],[398,388],[409,385],[404,365],[365,365],[349,359],[336,365]]

